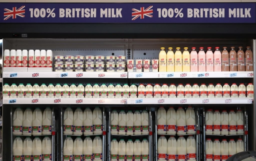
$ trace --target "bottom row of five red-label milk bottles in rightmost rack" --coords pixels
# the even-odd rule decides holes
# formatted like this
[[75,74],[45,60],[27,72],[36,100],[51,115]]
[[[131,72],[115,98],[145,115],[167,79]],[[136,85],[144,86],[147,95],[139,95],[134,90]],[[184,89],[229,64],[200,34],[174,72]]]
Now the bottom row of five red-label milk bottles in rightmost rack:
[[225,161],[228,157],[244,151],[244,142],[241,138],[238,138],[235,142],[234,139],[214,139],[214,142],[210,138],[206,139],[205,143],[205,160],[222,160]]

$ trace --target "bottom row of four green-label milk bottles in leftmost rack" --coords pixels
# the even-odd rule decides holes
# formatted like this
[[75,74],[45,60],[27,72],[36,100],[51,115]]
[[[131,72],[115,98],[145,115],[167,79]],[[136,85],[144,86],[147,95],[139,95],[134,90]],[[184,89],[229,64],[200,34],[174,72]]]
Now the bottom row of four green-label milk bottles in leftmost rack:
[[33,141],[26,137],[24,142],[19,136],[13,141],[13,161],[52,160],[52,140],[45,136],[43,140],[36,136]]

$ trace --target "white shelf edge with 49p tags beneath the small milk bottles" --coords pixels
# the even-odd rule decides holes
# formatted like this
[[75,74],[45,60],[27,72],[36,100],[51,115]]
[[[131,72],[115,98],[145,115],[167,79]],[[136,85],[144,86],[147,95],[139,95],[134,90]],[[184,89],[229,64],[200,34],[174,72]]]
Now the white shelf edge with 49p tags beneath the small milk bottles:
[[3,98],[3,104],[253,104],[253,98]]

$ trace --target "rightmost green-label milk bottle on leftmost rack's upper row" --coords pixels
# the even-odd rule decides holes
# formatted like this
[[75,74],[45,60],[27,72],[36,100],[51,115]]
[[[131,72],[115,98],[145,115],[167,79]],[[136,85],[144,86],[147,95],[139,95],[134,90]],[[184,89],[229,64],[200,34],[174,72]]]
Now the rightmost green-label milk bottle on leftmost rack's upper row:
[[42,127],[43,135],[52,134],[52,110],[49,107],[46,107],[46,109],[43,111]]

